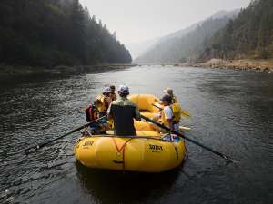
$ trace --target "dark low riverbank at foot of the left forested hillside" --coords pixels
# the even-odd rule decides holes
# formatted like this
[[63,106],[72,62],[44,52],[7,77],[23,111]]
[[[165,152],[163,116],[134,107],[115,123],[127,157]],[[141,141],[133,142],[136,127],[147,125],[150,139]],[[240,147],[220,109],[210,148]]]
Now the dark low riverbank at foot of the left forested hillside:
[[76,65],[76,66],[55,66],[55,67],[32,67],[13,66],[0,64],[0,77],[17,77],[40,74],[63,74],[63,73],[87,73],[94,70],[105,69],[126,69],[136,64],[97,64],[97,65]]

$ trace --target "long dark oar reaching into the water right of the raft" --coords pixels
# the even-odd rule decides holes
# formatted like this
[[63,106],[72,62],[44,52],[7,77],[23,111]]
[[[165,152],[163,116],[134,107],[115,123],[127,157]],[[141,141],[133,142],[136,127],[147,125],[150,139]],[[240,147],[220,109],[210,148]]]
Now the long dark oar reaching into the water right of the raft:
[[215,150],[213,150],[213,149],[211,149],[211,148],[205,146],[204,144],[201,144],[201,143],[198,142],[198,141],[194,141],[193,139],[188,138],[187,136],[185,136],[185,135],[182,134],[181,132],[178,132],[178,131],[171,131],[171,130],[170,130],[168,127],[166,127],[165,125],[163,125],[163,124],[161,124],[161,123],[159,123],[159,122],[157,122],[157,121],[153,121],[153,120],[151,120],[151,119],[149,119],[149,118],[147,118],[147,117],[145,117],[145,116],[143,116],[143,115],[141,115],[141,118],[143,118],[143,119],[146,120],[146,121],[150,121],[150,122],[156,124],[158,127],[163,128],[163,129],[165,129],[165,130],[167,130],[167,131],[170,131],[170,132],[176,134],[177,136],[179,136],[179,137],[181,137],[181,138],[184,138],[186,141],[190,141],[190,142],[196,144],[197,146],[199,146],[199,147],[201,147],[201,148],[203,148],[203,149],[205,149],[205,150],[207,150],[207,151],[210,151],[210,152],[216,154],[217,156],[219,156],[219,157],[221,157],[221,158],[223,158],[223,159],[225,159],[225,160],[228,160],[228,161],[231,161],[231,162],[236,162],[236,160],[233,160],[232,158],[228,157],[227,155],[225,155],[225,154],[223,154],[223,153],[221,153],[221,152],[215,151]]

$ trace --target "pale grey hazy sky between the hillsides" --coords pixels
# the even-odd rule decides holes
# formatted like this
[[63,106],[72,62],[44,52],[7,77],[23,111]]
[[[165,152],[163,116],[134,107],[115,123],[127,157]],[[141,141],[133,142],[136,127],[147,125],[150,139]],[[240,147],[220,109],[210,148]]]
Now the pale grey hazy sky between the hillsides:
[[248,6],[250,0],[80,0],[123,44],[175,32],[219,10]]

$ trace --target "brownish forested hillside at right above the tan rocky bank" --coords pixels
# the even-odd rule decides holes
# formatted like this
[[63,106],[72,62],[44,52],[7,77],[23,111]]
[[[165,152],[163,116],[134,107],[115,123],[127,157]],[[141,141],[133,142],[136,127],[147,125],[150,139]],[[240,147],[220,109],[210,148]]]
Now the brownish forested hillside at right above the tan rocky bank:
[[273,0],[255,0],[204,43],[198,61],[273,58]]

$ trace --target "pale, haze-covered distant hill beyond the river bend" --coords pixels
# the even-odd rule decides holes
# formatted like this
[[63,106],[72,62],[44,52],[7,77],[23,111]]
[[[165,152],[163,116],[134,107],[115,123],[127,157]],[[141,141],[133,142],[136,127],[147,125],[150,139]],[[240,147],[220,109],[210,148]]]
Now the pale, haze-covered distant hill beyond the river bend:
[[134,63],[183,63],[197,57],[200,45],[223,28],[238,15],[239,10],[220,11],[207,20],[192,24],[187,29],[179,30],[161,38],[147,52],[136,58]]

